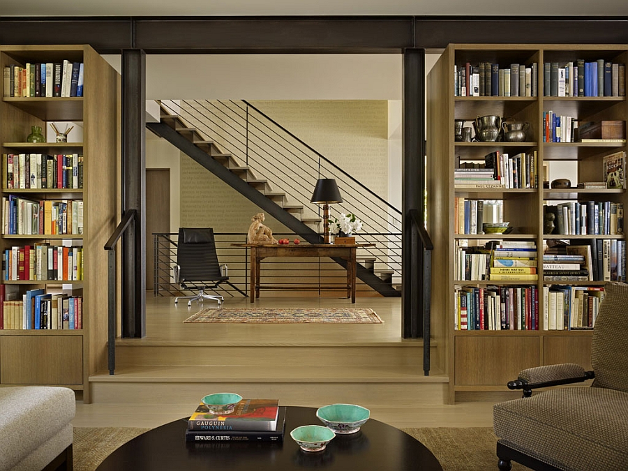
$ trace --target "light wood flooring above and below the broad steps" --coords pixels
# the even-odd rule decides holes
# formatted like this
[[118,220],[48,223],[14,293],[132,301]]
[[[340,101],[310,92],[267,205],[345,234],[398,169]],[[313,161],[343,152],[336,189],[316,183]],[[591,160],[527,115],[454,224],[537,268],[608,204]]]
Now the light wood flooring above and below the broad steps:
[[[257,306],[265,307],[369,307],[384,324],[184,324],[183,320],[197,311],[188,311],[185,301],[174,307],[172,298],[153,297],[147,293],[147,336],[124,339],[127,343],[147,345],[180,345],[182,342],[202,343],[211,336],[214,345],[336,345],[354,343],[414,343],[401,338],[401,298],[360,297],[356,304],[347,299],[324,297],[272,297],[262,293]],[[212,306],[209,304],[208,306]],[[247,299],[225,299],[225,306],[251,306]],[[421,361],[421,359],[417,359]],[[149,391],[147,396],[150,397]],[[403,427],[471,427],[492,426],[494,401],[469,401],[455,405],[421,405],[391,407],[379,404],[371,408],[371,417],[387,424]],[[153,428],[189,415],[195,404],[84,404],[77,403],[73,425],[77,427],[135,426]]]

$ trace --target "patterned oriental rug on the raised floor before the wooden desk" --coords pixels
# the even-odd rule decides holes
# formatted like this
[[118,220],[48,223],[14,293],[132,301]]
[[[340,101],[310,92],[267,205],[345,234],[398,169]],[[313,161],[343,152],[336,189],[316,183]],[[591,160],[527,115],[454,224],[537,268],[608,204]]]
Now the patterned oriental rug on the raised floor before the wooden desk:
[[184,322],[382,324],[384,321],[373,309],[366,308],[206,308]]

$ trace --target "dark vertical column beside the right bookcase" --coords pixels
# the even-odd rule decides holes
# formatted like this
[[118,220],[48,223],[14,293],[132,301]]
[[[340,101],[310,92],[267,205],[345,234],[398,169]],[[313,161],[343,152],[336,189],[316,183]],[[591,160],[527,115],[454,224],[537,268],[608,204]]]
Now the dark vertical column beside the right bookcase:
[[[402,229],[402,320],[401,336],[417,338],[423,334],[423,257],[418,233],[412,227],[410,210],[424,218],[425,194],[425,50],[403,51],[403,163],[401,211]],[[418,242],[417,242],[418,241]]]

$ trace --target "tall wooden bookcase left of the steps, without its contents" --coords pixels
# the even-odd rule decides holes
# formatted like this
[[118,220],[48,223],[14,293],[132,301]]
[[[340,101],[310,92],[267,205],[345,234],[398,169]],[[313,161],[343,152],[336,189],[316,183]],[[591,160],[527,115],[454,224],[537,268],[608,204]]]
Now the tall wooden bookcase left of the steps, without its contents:
[[[77,154],[83,156],[82,188],[2,188],[2,197],[31,200],[82,200],[82,234],[9,235],[1,250],[12,246],[82,245],[82,281],[2,280],[17,296],[43,288],[82,292],[82,329],[1,329],[0,385],[51,384],[70,387],[90,401],[89,375],[107,364],[107,255],[103,249],[115,228],[119,161],[119,75],[87,45],[0,46],[0,70],[13,64],[84,64],[82,97],[7,97],[0,102],[1,154]],[[31,126],[69,121],[82,126],[82,142],[27,142]],[[45,132],[45,131],[44,131]],[[71,231],[70,231],[71,232]],[[69,277],[68,277],[69,278]],[[19,298],[21,299],[21,297]]]

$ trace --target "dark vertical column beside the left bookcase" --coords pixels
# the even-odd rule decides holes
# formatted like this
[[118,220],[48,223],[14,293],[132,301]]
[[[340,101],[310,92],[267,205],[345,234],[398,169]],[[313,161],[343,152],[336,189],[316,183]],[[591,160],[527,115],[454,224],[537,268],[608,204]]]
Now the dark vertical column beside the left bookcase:
[[122,336],[146,336],[146,54],[122,51],[122,211],[137,211],[122,239]]

